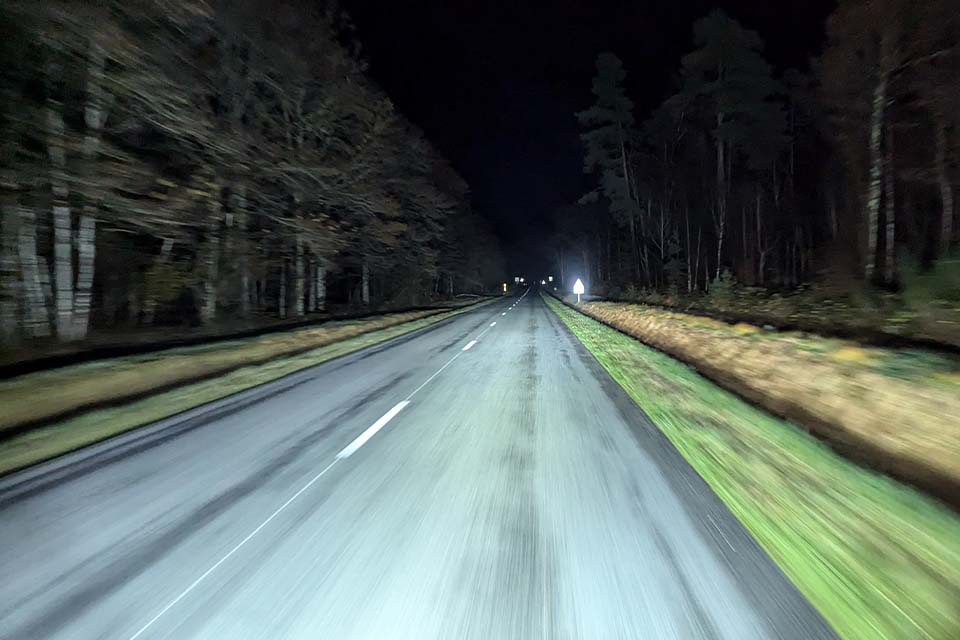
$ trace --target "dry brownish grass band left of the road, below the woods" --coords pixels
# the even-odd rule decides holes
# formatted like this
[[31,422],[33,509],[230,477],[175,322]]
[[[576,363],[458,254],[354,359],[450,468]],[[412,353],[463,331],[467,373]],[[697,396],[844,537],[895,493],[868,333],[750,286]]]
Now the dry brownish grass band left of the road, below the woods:
[[0,382],[0,437],[78,411],[134,400],[442,313],[412,311],[142,356],[99,360]]

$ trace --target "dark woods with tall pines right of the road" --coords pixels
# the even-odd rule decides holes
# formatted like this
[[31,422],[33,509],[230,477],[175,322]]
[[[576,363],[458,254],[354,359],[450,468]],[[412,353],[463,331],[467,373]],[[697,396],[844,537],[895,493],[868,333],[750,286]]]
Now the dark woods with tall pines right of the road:
[[596,189],[557,212],[556,261],[597,293],[720,279],[897,291],[952,269],[960,23],[951,0],[844,0],[809,71],[716,11],[640,120],[611,53],[577,114]]

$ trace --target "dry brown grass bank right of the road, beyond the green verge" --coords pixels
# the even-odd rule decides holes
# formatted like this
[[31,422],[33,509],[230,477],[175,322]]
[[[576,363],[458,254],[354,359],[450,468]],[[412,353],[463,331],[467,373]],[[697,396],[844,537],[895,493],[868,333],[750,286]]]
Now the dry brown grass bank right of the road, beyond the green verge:
[[844,452],[960,503],[960,384],[950,370],[955,361],[937,360],[924,369],[907,366],[916,354],[748,332],[642,305],[589,302],[577,308]]

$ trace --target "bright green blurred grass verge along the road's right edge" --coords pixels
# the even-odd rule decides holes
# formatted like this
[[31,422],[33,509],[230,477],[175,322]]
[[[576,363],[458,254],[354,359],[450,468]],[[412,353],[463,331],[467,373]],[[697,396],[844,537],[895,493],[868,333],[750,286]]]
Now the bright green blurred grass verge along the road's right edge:
[[960,515],[546,301],[842,638],[960,638]]

